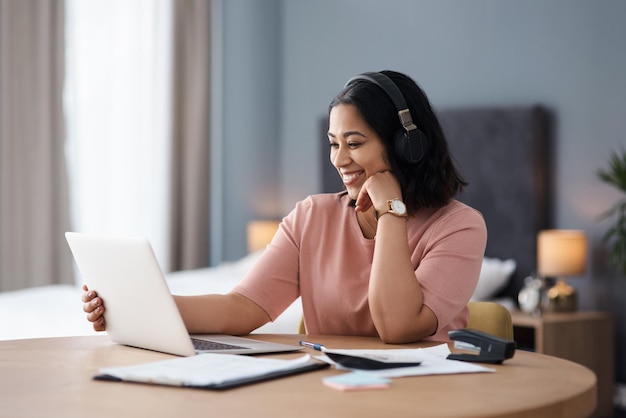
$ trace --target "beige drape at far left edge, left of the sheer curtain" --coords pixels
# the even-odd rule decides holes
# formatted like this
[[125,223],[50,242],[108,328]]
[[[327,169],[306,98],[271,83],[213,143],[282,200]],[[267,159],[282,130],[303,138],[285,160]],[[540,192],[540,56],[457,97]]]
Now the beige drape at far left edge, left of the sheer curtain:
[[0,291],[71,283],[63,0],[0,0]]

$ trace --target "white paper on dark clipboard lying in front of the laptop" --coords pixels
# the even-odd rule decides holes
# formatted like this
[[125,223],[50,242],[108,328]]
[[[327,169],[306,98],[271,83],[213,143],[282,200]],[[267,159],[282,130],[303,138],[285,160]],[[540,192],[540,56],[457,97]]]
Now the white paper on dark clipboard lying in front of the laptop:
[[198,354],[152,363],[100,369],[98,380],[225,389],[279,376],[316,370],[327,364],[304,355],[295,360],[237,354]]

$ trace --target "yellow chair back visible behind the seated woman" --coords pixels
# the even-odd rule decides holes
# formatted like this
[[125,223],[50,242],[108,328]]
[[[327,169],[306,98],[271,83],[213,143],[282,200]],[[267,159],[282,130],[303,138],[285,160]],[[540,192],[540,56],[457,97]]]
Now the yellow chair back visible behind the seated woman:
[[[505,340],[513,339],[513,322],[507,308],[496,302],[470,302],[467,328],[486,332]],[[300,318],[298,334],[306,334],[304,318]]]

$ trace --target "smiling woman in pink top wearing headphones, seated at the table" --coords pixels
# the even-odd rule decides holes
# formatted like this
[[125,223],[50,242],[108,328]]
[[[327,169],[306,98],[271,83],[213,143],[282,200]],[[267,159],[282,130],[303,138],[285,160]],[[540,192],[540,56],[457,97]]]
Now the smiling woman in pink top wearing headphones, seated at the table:
[[328,140],[345,191],[297,203],[229,294],[174,296],[190,333],[250,333],[298,296],[310,334],[448,341],[467,325],[486,228],[453,199],[466,183],[424,92],[397,72],[357,76],[330,104]]

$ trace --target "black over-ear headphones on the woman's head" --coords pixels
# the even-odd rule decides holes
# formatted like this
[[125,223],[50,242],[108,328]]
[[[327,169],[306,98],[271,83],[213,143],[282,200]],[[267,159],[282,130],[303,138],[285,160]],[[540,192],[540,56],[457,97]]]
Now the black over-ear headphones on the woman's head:
[[396,155],[409,164],[419,163],[426,153],[428,137],[413,123],[409,107],[396,83],[385,74],[371,72],[352,77],[344,87],[356,80],[374,83],[389,96],[398,110],[398,117],[402,124],[402,129],[398,130],[393,138]]

